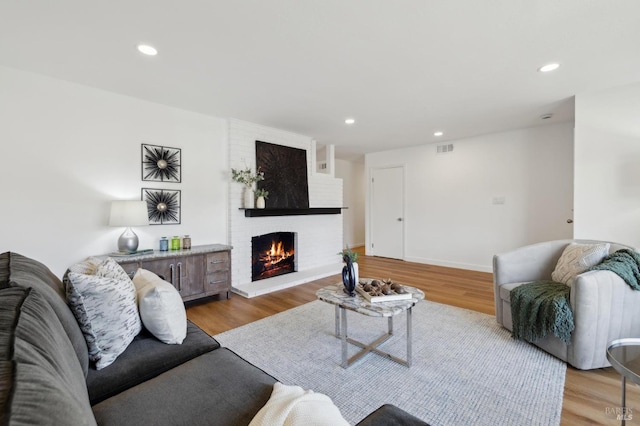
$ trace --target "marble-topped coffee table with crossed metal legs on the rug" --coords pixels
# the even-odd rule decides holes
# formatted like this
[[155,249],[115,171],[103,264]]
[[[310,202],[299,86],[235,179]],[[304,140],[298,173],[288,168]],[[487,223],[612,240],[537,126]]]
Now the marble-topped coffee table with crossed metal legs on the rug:
[[[363,278],[362,280],[367,280]],[[376,353],[406,367],[411,367],[411,308],[420,300],[424,299],[424,293],[414,287],[402,285],[402,287],[411,294],[410,299],[392,300],[384,302],[369,302],[367,299],[356,293],[354,297],[350,297],[343,290],[342,282],[328,287],[321,288],[317,291],[316,296],[323,302],[335,305],[335,321],[336,321],[336,337],[342,340],[342,367],[347,368],[354,362],[362,358],[369,352]],[[387,332],[378,337],[373,342],[366,344],[354,340],[349,337],[347,329],[347,311],[357,312],[362,315],[371,317],[387,317]],[[401,359],[395,355],[385,352],[378,348],[383,342],[387,341],[393,335],[393,317],[406,312],[407,315],[407,358]],[[357,354],[349,358],[349,343],[362,348]]]

